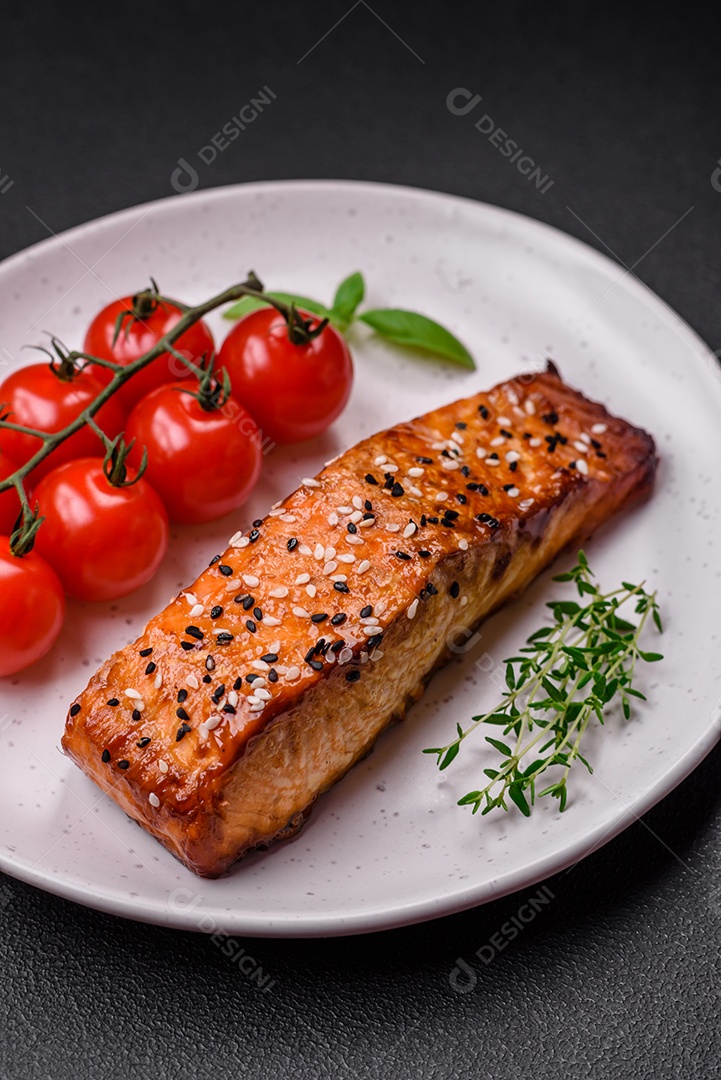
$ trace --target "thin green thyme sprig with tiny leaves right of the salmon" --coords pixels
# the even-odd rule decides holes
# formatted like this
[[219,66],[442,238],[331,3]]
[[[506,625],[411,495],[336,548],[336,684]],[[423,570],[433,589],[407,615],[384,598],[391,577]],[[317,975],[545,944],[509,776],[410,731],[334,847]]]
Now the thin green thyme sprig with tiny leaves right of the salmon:
[[[467,728],[457,725],[458,737],[446,746],[434,746],[439,769],[447,769],[461,744],[474,731],[499,729],[494,738],[486,735],[500,755],[496,768],[484,769],[488,783],[468,792],[459,806],[478,810],[508,809],[508,800],[527,818],[539,798],[552,796],[564,810],[568,778],[575,761],[593,772],[581,753],[583,737],[594,717],[603,724],[604,710],[620,699],[624,716],[630,716],[630,699],[644,701],[632,686],[639,660],[663,660],[658,652],[640,648],[639,640],[649,618],[662,631],[656,593],[643,584],[622,582],[620,589],[602,593],[579,552],[576,565],[554,581],[573,582],[581,603],[550,600],[546,606],[554,617],[552,625],[536,630],[519,650],[519,656],[504,661],[507,690],[494,708],[474,716]],[[631,606],[640,618],[631,622],[620,609]],[[536,793],[536,784],[548,769],[562,771],[548,786]],[[546,778],[548,779],[548,778]]]

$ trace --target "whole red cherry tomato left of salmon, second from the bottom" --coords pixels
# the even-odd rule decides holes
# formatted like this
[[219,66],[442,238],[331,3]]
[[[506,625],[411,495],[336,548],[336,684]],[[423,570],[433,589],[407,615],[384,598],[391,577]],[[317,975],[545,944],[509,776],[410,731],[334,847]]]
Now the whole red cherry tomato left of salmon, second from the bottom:
[[167,514],[150,484],[113,487],[100,458],[53,470],[33,501],[45,518],[35,550],[76,599],[125,596],[150,581],[167,551]]

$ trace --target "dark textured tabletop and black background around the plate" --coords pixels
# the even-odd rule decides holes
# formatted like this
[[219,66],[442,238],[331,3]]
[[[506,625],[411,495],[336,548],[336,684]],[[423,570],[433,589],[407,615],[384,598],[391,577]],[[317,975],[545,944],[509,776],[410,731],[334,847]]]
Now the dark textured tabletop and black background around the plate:
[[[260,15],[189,0],[172,26],[148,5],[108,9],[117,28],[90,5],[4,11],[0,176],[14,184],[0,194],[0,255],[47,234],[27,206],[60,231],[173,194],[178,159],[268,85],[276,100],[199,167],[201,187],[353,177],[508,206],[640,260],[635,272],[721,347],[721,78],[703,15],[371,6],[301,64],[344,2]],[[479,110],[554,179],[545,194],[474,129],[480,111],[449,113],[455,86],[481,94]],[[261,991],[206,937],[0,878],[0,1076],[716,1076],[720,766],[717,750],[547,882],[550,903],[488,963],[474,954],[527,917],[528,894],[373,937],[244,942],[273,980]],[[467,993],[450,982],[459,957],[476,978],[455,978]]]

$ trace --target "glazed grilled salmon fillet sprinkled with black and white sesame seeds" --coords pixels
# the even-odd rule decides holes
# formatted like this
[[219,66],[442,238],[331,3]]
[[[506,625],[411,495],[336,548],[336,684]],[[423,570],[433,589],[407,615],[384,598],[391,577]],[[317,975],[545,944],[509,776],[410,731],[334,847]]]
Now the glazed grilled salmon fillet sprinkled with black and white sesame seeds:
[[460,629],[645,496],[655,467],[652,437],[552,363],[366,438],[100,667],[65,752],[217,876],[297,828]]

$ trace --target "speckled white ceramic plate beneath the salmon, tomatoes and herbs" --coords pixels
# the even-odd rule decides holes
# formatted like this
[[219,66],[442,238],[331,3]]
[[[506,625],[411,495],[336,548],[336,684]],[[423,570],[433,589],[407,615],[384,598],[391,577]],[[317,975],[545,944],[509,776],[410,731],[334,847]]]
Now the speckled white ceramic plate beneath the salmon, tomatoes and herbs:
[[[410,359],[359,335],[352,402],[331,432],[274,451],[237,519],[177,530],[165,566],[139,595],[71,606],[51,656],[0,685],[0,868],[134,919],[274,936],[379,930],[531,886],[636,820],[719,735],[716,362],[631,275],[544,225],[424,191],[303,181],[168,199],[14,256],[0,267],[0,363],[31,360],[21,347],[42,330],[80,346],[95,311],[149,274],[169,295],[199,301],[250,268],[270,286],[319,298],[363,269],[371,303],[436,315],[468,345],[478,370]],[[218,316],[214,325],[221,332],[228,324]],[[587,549],[601,581],[647,578],[661,592],[666,660],[650,669],[649,705],[631,723],[613,718],[591,737],[596,772],[576,770],[562,815],[556,804],[540,805],[529,821],[515,810],[480,819],[454,806],[476,786],[481,747],[468,746],[443,774],[421,751],[492,704],[499,688],[487,669],[544,617],[544,602],[559,588],[547,573],[434,678],[408,720],[318,801],[296,839],[251,855],[221,880],[193,877],[63,757],[67,703],[236,526],[260,516],[300,476],[373,430],[546,355],[571,383],[657,438],[653,500]]]

